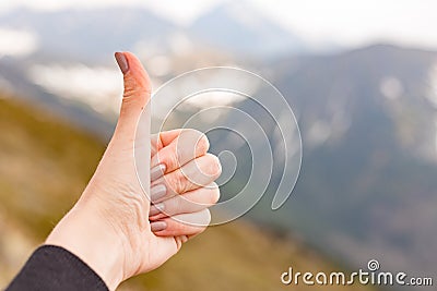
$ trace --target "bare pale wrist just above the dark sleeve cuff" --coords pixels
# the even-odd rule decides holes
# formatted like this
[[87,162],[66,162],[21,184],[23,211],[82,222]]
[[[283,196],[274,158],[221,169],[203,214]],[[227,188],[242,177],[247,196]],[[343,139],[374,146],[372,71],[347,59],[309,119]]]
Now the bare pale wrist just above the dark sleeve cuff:
[[88,265],[115,290],[123,280],[122,243],[95,211],[70,210],[55,227],[46,244],[58,245]]

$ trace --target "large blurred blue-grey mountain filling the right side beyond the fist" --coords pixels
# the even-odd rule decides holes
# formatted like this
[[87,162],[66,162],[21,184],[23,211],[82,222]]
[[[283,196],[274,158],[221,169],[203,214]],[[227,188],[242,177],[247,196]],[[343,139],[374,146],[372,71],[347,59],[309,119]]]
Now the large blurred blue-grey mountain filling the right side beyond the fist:
[[[248,215],[298,231],[353,266],[376,258],[385,270],[432,276],[437,269],[436,57],[376,45],[270,63],[273,83],[298,119],[303,166],[280,210],[270,209],[274,174]],[[252,102],[239,108],[273,140],[274,123],[263,110]],[[283,153],[276,154],[283,160]]]

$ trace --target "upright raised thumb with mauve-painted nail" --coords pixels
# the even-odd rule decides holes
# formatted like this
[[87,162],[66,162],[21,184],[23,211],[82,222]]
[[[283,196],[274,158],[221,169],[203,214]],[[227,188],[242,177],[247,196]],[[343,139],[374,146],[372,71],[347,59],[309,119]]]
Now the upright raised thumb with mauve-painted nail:
[[151,98],[152,85],[140,60],[131,52],[116,52],[115,58],[123,74],[125,92],[115,135],[133,140],[142,110]]

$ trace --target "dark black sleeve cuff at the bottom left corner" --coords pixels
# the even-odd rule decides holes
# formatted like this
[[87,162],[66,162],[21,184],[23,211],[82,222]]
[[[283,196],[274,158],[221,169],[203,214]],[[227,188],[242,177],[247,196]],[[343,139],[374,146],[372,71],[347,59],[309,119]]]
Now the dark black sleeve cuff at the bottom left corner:
[[108,291],[108,288],[94,270],[69,251],[43,245],[7,288],[7,291],[22,290]]

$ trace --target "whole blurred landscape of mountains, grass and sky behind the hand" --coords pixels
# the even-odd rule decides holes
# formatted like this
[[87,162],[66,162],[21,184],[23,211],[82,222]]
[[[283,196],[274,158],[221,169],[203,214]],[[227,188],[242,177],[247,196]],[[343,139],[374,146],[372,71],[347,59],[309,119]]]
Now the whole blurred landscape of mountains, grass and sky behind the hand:
[[[433,0],[2,0],[0,286],[93,173],[119,110],[122,50],[141,58],[154,88],[210,65],[264,76],[296,114],[304,157],[282,208],[270,209],[273,177],[243,218],[120,290],[286,290],[290,266],[350,271],[373,258],[436,276],[436,10]],[[229,146],[223,137],[210,136],[212,151]],[[222,199],[244,178],[233,181]]]

